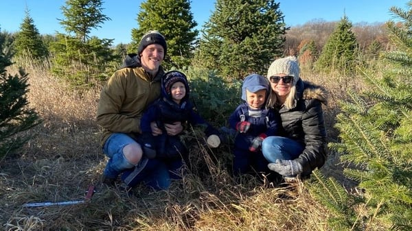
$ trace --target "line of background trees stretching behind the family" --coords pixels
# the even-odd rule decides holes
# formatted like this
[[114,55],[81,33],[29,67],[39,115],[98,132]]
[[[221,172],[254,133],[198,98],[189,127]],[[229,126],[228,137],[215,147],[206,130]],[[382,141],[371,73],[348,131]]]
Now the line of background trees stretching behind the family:
[[[310,64],[320,59],[317,66],[328,69],[330,65],[322,60],[330,60],[330,55],[341,59],[333,62],[339,67],[358,58],[354,56],[359,56],[359,52],[374,58],[387,49],[384,23],[353,26],[343,15],[340,22],[310,21],[286,27],[280,8],[280,3],[274,0],[216,1],[214,12],[199,32],[195,29],[198,24],[194,21],[190,1],[148,0],[141,3],[137,27],[131,28],[132,42],[113,45],[111,38],[90,35],[91,29],[101,28],[105,21],[111,20],[103,13],[102,1],[68,0],[60,8],[64,18],[58,19],[65,34],[39,34],[29,10],[25,12],[19,32],[1,33],[12,41],[10,49],[15,56],[51,58],[54,75],[69,80],[73,86],[86,87],[104,82],[127,53],[137,51],[141,36],[150,29],[159,30],[168,41],[166,69],[184,70],[196,66],[216,70],[227,80],[241,80],[251,72],[264,73],[267,65],[280,56],[302,56],[301,62],[310,61]],[[335,34],[344,32],[348,36],[344,45],[341,43],[344,38],[328,45],[336,29],[339,31]],[[356,52],[349,54],[345,53],[346,47],[334,47],[339,45],[347,45]],[[325,53],[323,57],[322,53]]]

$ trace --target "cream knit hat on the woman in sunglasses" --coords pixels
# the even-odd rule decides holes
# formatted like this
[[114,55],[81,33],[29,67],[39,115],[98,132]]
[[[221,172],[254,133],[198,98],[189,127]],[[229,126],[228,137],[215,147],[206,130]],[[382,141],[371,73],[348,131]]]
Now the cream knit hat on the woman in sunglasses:
[[268,79],[277,74],[285,74],[293,76],[293,85],[299,80],[299,64],[295,56],[279,58],[272,62],[268,69]]

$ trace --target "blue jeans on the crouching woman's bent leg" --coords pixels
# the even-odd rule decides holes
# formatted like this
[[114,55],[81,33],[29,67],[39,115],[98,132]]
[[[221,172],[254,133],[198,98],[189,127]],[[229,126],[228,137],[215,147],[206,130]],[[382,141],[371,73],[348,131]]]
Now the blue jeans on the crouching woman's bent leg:
[[305,147],[291,138],[282,136],[268,136],[263,140],[262,153],[270,163],[279,160],[294,160]]

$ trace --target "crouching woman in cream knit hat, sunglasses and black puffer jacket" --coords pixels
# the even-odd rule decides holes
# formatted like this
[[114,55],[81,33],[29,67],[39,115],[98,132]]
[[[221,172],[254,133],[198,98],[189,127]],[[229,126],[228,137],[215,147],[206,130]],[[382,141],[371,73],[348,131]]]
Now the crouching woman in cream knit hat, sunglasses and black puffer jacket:
[[268,107],[282,119],[281,135],[269,136],[262,143],[268,168],[286,182],[308,178],[322,167],[327,155],[326,130],[321,104],[327,104],[321,86],[304,82],[293,56],[272,62],[268,69],[271,96]]

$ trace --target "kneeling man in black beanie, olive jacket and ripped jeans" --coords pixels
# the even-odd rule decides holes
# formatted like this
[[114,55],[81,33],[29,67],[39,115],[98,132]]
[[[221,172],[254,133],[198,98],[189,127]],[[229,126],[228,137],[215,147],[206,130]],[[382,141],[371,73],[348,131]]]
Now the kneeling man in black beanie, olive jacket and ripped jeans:
[[[161,62],[166,51],[163,35],[158,31],[148,32],[141,38],[137,54],[128,55],[122,68],[113,73],[100,93],[97,121],[104,129],[101,144],[109,158],[101,183],[113,185],[120,173],[135,166],[144,173],[147,159],[136,138],[141,133],[141,114],[160,96],[160,80],[165,73]],[[153,135],[162,133],[155,123],[150,127]],[[183,126],[180,122],[166,124],[165,130],[173,136],[179,134]],[[152,167],[157,168],[157,165]],[[167,169],[157,170],[165,172]],[[142,181],[157,184],[168,180],[158,178],[167,177],[165,174],[148,174],[148,179]]]

